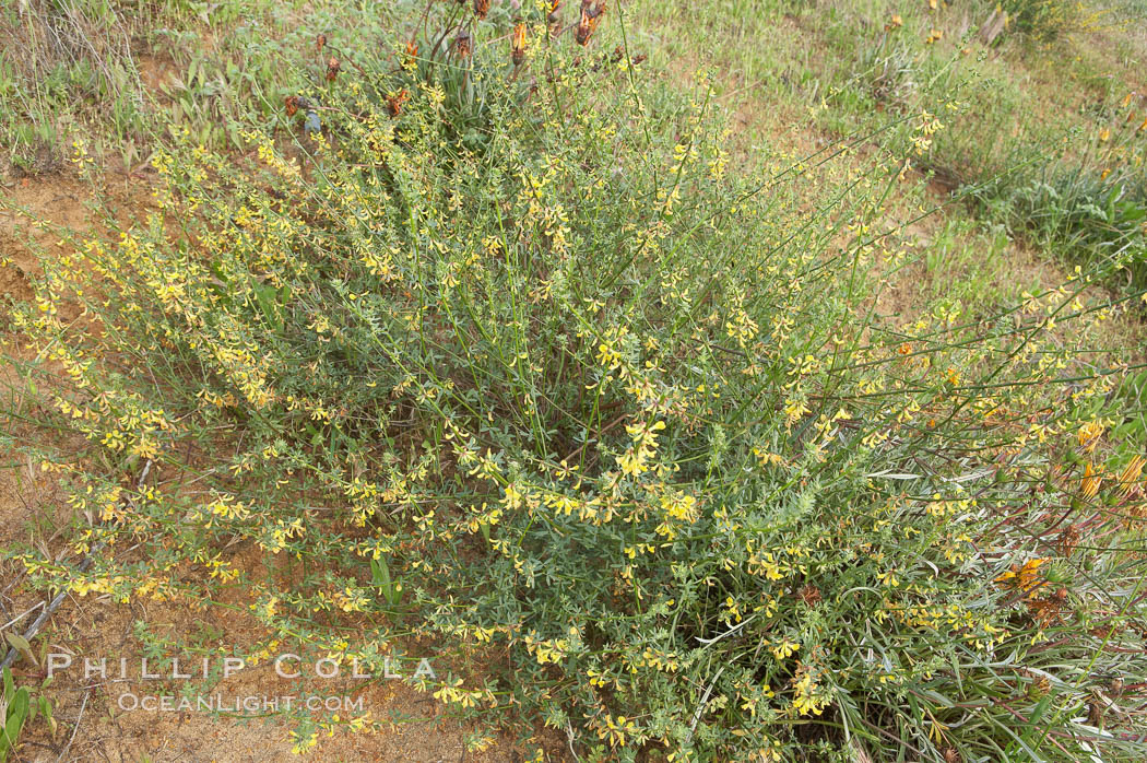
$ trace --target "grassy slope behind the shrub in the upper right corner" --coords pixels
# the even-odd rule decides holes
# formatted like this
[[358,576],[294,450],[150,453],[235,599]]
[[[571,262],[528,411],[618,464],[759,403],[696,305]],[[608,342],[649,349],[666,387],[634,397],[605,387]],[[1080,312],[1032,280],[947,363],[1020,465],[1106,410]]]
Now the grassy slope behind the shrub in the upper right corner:
[[[1128,95],[1147,41],[1110,62],[1086,37],[1105,30],[1126,46],[1134,38],[1119,30],[1133,22],[1075,3],[1023,0],[1009,6],[1014,25],[988,46],[977,31],[990,3],[942,3],[935,11],[923,2],[759,5],[750,11],[736,2],[658,3],[639,14],[641,26],[668,40],[665,60],[711,64],[720,72],[718,93],[771,112],[758,125],[765,131],[807,114],[813,129],[850,134],[938,106],[949,129],[916,159],[920,169],[961,189],[975,213],[1062,262],[1110,262],[1122,251],[1128,278],[1110,282],[1130,282],[1132,293],[1147,286],[1147,244],[1137,224],[1147,193],[1147,130],[1137,127],[1147,101]],[[928,45],[933,29],[945,37]],[[1103,130],[1118,135],[1095,150]],[[1047,178],[1056,193],[1031,193]],[[1109,210],[1114,197],[1119,209]]]

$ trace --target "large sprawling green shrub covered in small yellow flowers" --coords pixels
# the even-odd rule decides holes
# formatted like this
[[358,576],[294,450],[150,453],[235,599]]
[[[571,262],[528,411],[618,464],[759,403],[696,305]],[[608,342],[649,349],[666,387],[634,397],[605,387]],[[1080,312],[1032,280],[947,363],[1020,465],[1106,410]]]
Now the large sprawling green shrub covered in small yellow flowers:
[[739,177],[704,87],[582,24],[328,64],[291,140],[173,146],[146,223],[45,263],[29,373],[89,443],[46,468],[106,552],[36,579],[429,637],[435,696],[586,760],[1140,754],[1103,703],[1147,672],[1139,475],[1115,376],[1041,338],[1085,282],[882,319],[906,141]]

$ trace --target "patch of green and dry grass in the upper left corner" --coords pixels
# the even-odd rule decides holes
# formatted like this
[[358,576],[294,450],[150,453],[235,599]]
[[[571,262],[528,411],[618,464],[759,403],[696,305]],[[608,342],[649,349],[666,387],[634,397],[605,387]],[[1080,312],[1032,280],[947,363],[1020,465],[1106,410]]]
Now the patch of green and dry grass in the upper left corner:
[[[83,138],[130,172],[173,131],[237,149],[236,125],[274,124],[296,67],[325,65],[312,29],[357,29],[346,55],[391,30],[389,2],[30,0],[0,10],[0,146],[26,173],[61,169]],[[309,31],[301,31],[305,21]],[[94,137],[95,140],[91,140]]]

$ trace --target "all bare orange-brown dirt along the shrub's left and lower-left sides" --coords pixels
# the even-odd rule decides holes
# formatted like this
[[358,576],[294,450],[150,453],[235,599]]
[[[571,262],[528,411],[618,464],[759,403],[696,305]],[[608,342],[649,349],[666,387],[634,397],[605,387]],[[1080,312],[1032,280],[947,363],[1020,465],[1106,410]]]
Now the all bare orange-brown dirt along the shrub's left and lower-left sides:
[[[108,187],[112,202],[124,210],[146,208],[149,196],[146,179],[112,178]],[[58,251],[58,234],[50,228],[29,226],[10,208],[23,208],[31,217],[84,231],[97,224],[86,207],[91,193],[73,178],[50,176],[6,179],[0,185],[0,195],[8,202],[0,203],[0,299],[26,301],[31,297],[29,279],[38,271],[36,251],[46,256]],[[6,355],[24,355],[17,340],[11,334],[0,337]],[[5,395],[14,394],[15,381],[14,368],[0,367]],[[23,565],[9,555],[29,547],[62,550],[62,530],[71,519],[70,511],[53,475],[41,473],[38,465],[0,446],[0,633],[3,636],[24,633],[48,601],[47,594],[30,590]],[[263,702],[264,698],[290,696],[292,703],[299,696],[331,702],[346,698],[342,701],[349,701],[353,710],[348,717],[367,713],[372,721],[380,722],[379,731],[320,735],[307,754],[295,755],[289,737],[292,724],[283,713],[260,709],[252,715],[262,717],[241,719],[220,717],[204,709],[178,709],[181,688],[192,693],[206,684],[195,679],[171,680],[170,676],[166,680],[143,679],[141,661],[148,653],[147,645],[135,633],[139,621],[146,621],[153,631],[197,634],[198,643],[205,646],[250,644],[258,638],[257,628],[248,618],[217,609],[190,612],[172,605],[118,605],[107,597],[69,595],[32,639],[32,646],[37,654],[46,647],[48,654],[72,655],[72,665],[57,670],[45,690],[38,687],[46,677],[46,664],[32,667],[22,661],[14,669],[17,684],[29,686],[33,701],[39,695],[52,701],[57,729],[53,734],[48,724],[37,718],[25,727],[10,761],[510,763],[523,760],[522,752],[506,739],[492,740],[483,752],[467,752],[465,738],[473,730],[445,717],[442,706],[430,694],[396,679],[353,679],[346,668],[338,678],[319,679],[313,665],[304,667],[303,678],[284,679],[275,674],[272,663],[265,662],[247,667],[211,687],[208,696],[216,698],[223,708],[235,708],[242,698]],[[107,659],[107,675],[85,677],[85,657]],[[126,659],[125,677],[119,675],[120,659]],[[56,660],[62,662],[64,657]],[[200,660],[196,659],[196,665]],[[217,667],[223,655],[211,660],[210,664]],[[195,675],[190,668],[186,670]],[[172,698],[171,709],[136,706],[149,702],[145,698],[163,696]],[[287,701],[280,699],[280,708]],[[560,760],[561,754],[557,749],[549,760]]]

